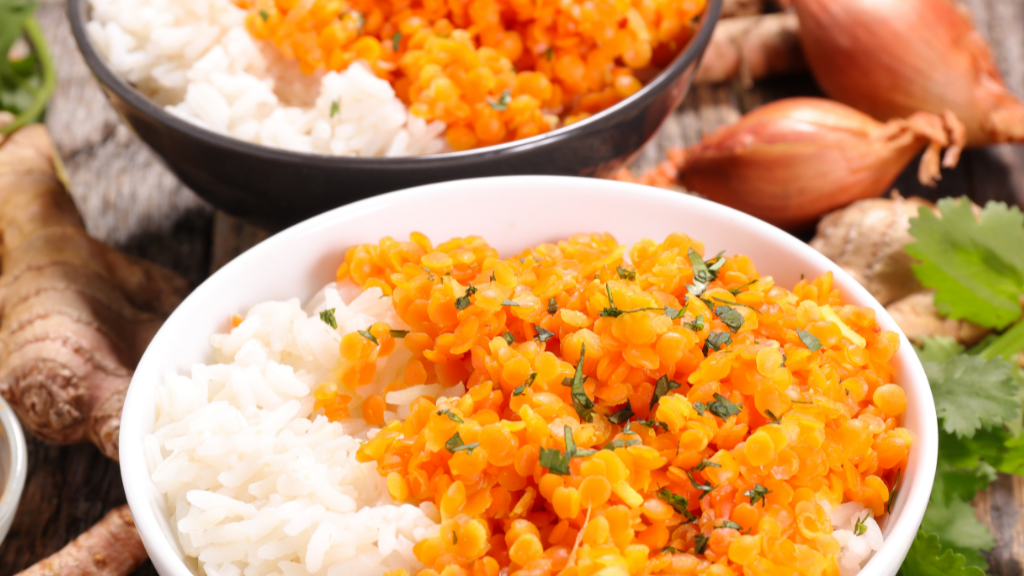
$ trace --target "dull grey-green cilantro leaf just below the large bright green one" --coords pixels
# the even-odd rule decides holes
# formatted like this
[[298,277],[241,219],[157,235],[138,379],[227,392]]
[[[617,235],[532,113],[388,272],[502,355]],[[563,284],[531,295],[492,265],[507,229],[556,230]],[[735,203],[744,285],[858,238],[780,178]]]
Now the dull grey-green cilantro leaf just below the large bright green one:
[[[926,343],[925,349],[929,347]],[[1020,385],[1012,363],[966,354],[940,362],[927,360],[936,356],[926,352],[922,364],[944,430],[971,438],[979,428],[1001,425],[1018,416]]]

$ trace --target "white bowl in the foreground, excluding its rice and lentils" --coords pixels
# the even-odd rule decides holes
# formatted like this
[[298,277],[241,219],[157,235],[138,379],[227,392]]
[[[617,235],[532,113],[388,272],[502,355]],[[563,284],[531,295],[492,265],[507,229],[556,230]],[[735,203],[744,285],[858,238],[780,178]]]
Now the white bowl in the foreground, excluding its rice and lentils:
[[846,302],[874,310],[879,324],[900,334],[894,357],[907,396],[904,425],[914,443],[882,549],[861,572],[893,576],[924,517],[935,478],[938,426],[925,372],[896,323],[834,262],[757,218],[690,196],[617,181],[557,176],[460,180],[395,192],[332,210],[264,241],[210,277],[171,315],[142,356],[121,420],[121,477],[135,524],[163,576],[193,576],[172,535],[163,496],[150,479],[142,441],[153,431],[155,390],[167,371],[188,373],[209,362],[210,335],[228,318],[269,299],[306,299],[335,277],[344,251],[411,232],[434,241],[479,235],[503,255],[579,232],[610,232],[624,244],[672,232],[705,242],[710,253],[750,255],[764,275],[792,287],[801,275],[831,271]]

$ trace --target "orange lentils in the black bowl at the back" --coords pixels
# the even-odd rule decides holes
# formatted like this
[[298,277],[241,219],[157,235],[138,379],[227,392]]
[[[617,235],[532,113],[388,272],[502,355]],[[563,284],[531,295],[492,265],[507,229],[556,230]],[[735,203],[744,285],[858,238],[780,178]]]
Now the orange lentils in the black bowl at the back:
[[547,132],[640,89],[706,0],[237,0],[303,72],[362,60],[455,150]]

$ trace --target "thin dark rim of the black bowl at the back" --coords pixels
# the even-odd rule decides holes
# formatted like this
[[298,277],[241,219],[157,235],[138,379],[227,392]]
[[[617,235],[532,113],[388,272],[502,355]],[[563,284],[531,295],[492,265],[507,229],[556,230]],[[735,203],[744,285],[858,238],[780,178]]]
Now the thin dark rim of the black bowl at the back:
[[345,157],[328,156],[323,154],[293,152],[289,150],[272,148],[263,145],[256,145],[221,134],[213,130],[193,124],[179,118],[151,100],[126,80],[123,80],[108,66],[105,59],[92,45],[89,35],[85,30],[86,10],[89,8],[89,0],[70,0],[68,2],[68,19],[71,23],[72,34],[78,44],[82,56],[92,71],[93,75],[108,89],[112,90],[118,97],[127,101],[136,110],[155,119],[160,124],[168,126],[185,135],[202,140],[204,143],[221,149],[230,149],[234,152],[254,156],[268,161],[281,162],[302,162],[306,164],[323,165],[326,167],[349,167],[349,166],[373,166],[379,168],[394,168],[403,165],[411,167],[422,166],[426,163],[458,163],[460,161],[473,160],[476,157],[487,157],[501,153],[511,153],[517,150],[532,149],[549,140],[560,140],[565,138],[570,132],[587,129],[595,124],[605,121],[611,117],[623,114],[627,109],[653,99],[658,93],[667,89],[690,64],[699,65],[703,51],[711,41],[712,33],[718,24],[724,0],[707,0],[703,12],[699,16],[697,34],[690,39],[682,52],[676,55],[672,63],[645,84],[636,93],[626,99],[616,102],[593,116],[568,126],[562,126],[550,132],[530,136],[519,140],[512,140],[500,145],[494,145],[478,149],[461,152],[446,152],[441,154],[430,154],[424,156],[401,156],[401,157]]

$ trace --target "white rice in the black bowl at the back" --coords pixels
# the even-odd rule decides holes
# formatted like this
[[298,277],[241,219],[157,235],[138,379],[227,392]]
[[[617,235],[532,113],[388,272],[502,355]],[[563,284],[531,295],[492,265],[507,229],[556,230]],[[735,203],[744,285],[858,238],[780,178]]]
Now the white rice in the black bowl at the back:
[[442,122],[409,114],[361,63],[307,76],[254,40],[230,0],[90,0],[89,38],[168,112],[253,143],[333,156],[447,150]]

